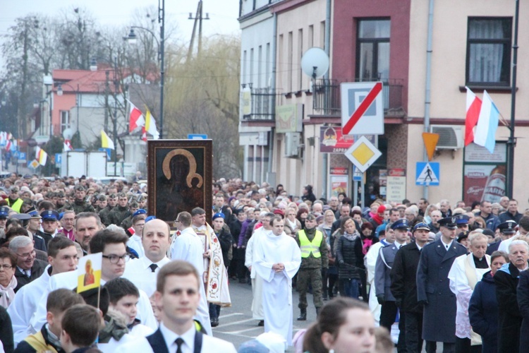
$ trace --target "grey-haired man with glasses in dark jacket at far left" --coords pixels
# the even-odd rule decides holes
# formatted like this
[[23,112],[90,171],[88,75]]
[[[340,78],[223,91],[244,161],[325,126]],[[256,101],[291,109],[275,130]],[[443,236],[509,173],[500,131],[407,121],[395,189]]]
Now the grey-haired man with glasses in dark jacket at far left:
[[35,249],[30,237],[13,238],[9,242],[9,249],[16,253],[17,257],[15,277],[18,283],[15,292],[18,292],[18,289],[40,277],[47,264],[35,258]]

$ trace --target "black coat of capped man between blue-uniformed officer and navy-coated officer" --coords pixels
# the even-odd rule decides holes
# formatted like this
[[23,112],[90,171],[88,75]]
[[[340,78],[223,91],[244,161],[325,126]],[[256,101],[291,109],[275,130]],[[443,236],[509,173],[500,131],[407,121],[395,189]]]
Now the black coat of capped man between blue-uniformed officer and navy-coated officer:
[[417,303],[417,266],[420,251],[415,242],[402,246],[395,255],[391,268],[391,294],[402,302],[401,311],[422,313]]

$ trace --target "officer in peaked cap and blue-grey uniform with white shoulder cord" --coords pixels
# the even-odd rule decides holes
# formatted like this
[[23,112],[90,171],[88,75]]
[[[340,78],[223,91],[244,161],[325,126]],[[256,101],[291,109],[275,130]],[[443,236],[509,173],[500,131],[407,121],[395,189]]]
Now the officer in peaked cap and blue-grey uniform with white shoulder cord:
[[[387,237],[389,245],[380,249],[375,265],[375,294],[382,309],[380,311],[380,325],[391,331],[391,325],[395,322],[398,308],[395,304],[395,297],[391,294],[389,289],[391,286],[391,278],[389,273],[393,266],[395,255],[401,246],[406,245],[408,238],[408,220],[401,218],[391,225],[394,231],[393,237]],[[391,239],[394,238],[394,239]],[[399,343],[397,344],[398,352],[406,352],[404,318],[401,316],[399,320]]]

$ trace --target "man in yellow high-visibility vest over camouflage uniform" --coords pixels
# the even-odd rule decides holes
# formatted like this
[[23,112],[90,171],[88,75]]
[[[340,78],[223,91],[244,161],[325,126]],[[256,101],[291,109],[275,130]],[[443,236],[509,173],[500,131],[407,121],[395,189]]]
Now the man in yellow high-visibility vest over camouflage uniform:
[[316,229],[316,216],[310,213],[305,219],[305,228],[296,233],[296,242],[301,250],[301,265],[298,271],[296,287],[299,292],[300,316],[298,321],[307,320],[307,291],[312,285],[312,296],[316,314],[323,306],[322,299],[322,268],[329,268],[327,242],[322,232]]

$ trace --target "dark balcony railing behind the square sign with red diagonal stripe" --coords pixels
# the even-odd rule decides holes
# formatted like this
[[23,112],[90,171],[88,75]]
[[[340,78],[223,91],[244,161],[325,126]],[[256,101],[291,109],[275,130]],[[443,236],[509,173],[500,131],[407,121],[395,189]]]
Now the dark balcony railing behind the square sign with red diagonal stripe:
[[[312,108],[316,114],[341,114],[340,83],[358,80],[318,79],[312,88]],[[399,79],[382,80],[384,116],[403,117],[406,112],[402,106],[403,81]]]

